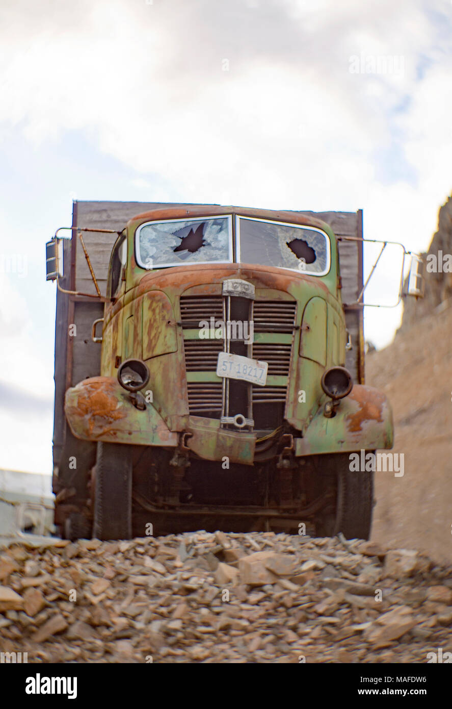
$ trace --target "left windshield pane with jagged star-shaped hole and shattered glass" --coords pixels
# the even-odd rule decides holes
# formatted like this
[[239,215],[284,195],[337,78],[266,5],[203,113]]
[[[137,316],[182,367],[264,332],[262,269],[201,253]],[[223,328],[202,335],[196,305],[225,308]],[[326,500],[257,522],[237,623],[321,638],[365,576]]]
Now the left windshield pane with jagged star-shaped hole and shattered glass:
[[137,229],[137,263],[141,267],[230,262],[230,217],[151,222]]

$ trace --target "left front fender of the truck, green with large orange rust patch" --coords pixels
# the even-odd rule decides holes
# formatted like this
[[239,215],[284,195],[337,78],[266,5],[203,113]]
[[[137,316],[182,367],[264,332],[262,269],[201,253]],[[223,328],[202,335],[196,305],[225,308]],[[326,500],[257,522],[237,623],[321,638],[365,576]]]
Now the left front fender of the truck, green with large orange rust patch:
[[175,447],[171,432],[152,403],[139,411],[111,376],[93,376],[68,389],[64,412],[77,438],[109,443]]

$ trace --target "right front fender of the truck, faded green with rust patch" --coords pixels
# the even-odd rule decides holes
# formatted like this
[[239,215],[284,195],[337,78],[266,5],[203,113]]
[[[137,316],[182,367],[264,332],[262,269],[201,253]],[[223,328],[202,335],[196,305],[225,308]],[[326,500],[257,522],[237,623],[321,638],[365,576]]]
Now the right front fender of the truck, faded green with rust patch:
[[304,437],[295,441],[295,455],[392,448],[392,441],[388,399],[372,386],[356,384],[334,418],[325,418],[323,406],[319,409]]

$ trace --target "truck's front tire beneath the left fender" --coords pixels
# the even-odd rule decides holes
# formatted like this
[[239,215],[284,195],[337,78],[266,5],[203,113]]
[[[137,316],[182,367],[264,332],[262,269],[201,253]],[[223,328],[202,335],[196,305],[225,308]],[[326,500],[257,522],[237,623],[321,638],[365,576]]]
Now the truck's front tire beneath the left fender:
[[130,446],[98,442],[94,491],[94,537],[132,537],[132,455]]

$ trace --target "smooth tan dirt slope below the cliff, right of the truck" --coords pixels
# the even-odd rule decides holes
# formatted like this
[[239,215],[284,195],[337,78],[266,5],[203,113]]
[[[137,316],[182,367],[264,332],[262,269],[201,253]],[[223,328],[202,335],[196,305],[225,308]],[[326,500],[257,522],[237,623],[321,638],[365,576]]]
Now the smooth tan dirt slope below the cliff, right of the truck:
[[452,307],[439,308],[366,358],[387,394],[405,474],[375,473],[372,539],[452,562]]

